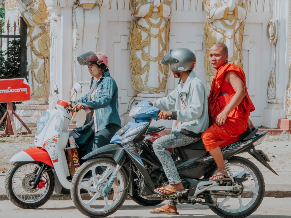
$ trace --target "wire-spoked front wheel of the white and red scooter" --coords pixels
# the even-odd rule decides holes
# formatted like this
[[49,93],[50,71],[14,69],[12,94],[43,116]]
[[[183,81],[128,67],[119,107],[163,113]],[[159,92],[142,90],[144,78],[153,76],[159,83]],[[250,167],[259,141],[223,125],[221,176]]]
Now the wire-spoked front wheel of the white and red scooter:
[[[29,168],[28,166],[34,166],[34,167],[40,168],[41,165],[42,165],[42,162],[37,162],[37,161],[15,162],[8,169],[7,174],[5,176],[5,190],[6,190],[8,199],[17,207],[23,208],[23,209],[39,208],[40,206],[44,205],[49,200],[50,196],[54,192],[55,179],[54,179],[54,173],[52,172],[52,170],[49,170],[49,171],[44,170],[42,173],[42,178],[45,179],[45,184],[48,184],[47,186],[45,186],[45,184],[43,183],[44,187],[40,188],[39,186],[37,186],[35,189],[31,189],[29,187],[31,185],[29,184],[29,182],[33,180],[33,177],[36,174],[24,173],[24,178],[22,180],[20,179],[20,182],[18,182],[20,184],[15,187],[17,180],[14,181],[14,177],[17,176],[17,178],[19,178],[21,175],[18,175],[18,173],[24,172],[24,170],[21,170],[21,168],[26,167],[27,169]],[[32,167],[30,168],[32,170]],[[18,190],[21,187],[25,191],[26,194],[22,194],[20,196],[20,194],[18,195],[16,193],[16,189]],[[45,190],[43,194],[41,194],[41,192],[43,191],[42,190],[43,188],[45,188]],[[40,194],[36,194],[36,192],[38,192],[39,190],[41,190]],[[36,196],[38,195],[40,196],[36,198]],[[27,199],[25,199],[26,196],[27,196]],[[29,199],[29,196],[30,196],[30,199]]]

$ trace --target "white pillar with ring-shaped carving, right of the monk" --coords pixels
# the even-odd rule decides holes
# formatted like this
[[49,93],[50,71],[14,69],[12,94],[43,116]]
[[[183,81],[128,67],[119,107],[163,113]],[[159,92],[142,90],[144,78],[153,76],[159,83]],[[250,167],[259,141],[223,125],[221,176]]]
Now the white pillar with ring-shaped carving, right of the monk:
[[[267,107],[263,111],[262,126],[269,128],[283,128],[285,129],[286,121],[281,119],[285,118],[283,95],[285,94],[285,67],[280,63],[280,58],[285,56],[286,44],[288,43],[285,39],[284,31],[286,28],[283,26],[284,23],[288,23],[288,12],[284,12],[286,2],[274,0],[273,1],[273,18],[270,20],[267,27],[267,35],[269,41],[272,43],[272,69],[269,76],[269,82],[267,86]],[[288,7],[287,7],[288,8]],[[284,10],[282,10],[284,9]],[[283,25],[282,25],[283,24]],[[280,33],[280,35],[279,35]],[[287,66],[286,66],[287,67]],[[285,86],[285,87],[284,87]],[[286,113],[288,114],[288,87],[287,87],[287,106]],[[288,115],[287,115],[288,117]]]

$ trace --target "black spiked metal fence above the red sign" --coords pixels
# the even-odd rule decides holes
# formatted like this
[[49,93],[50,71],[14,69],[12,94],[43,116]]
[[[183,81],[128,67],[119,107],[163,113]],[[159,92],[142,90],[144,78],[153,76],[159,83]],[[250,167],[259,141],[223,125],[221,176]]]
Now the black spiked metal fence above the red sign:
[[[6,24],[7,34],[3,34],[5,24],[0,21],[0,77],[27,78],[26,35],[27,26],[22,17],[19,19],[20,35],[16,35],[16,22],[14,21],[14,35],[9,34],[10,23]],[[12,26],[11,26],[12,28]],[[3,50],[4,39],[7,38],[7,49]],[[5,42],[6,44],[6,42]]]

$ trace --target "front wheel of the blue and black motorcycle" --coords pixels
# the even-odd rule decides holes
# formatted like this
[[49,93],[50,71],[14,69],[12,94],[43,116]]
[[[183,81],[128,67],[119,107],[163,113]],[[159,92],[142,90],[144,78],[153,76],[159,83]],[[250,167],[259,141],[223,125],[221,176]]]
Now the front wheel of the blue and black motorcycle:
[[[122,187],[120,187],[120,189],[122,189],[122,190],[120,190],[120,193],[121,193],[120,196],[118,196],[114,201],[111,201],[111,200],[109,201],[107,197],[102,197],[101,191],[99,193],[97,193],[97,190],[91,191],[91,194],[94,196],[95,196],[95,194],[100,195],[99,198],[100,197],[103,198],[104,203],[105,203],[105,201],[107,201],[106,205],[108,208],[104,209],[106,207],[106,206],[104,206],[104,208],[100,209],[99,211],[96,211],[95,208],[91,207],[91,204],[87,206],[88,202],[83,201],[82,196],[81,196],[81,191],[87,190],[87,189],[84,186],[82,188],[79,187],[80,183],[82,182],[82,179],[84,179],[84,176],[88,175],[88,172],[90,172],[91,169],[96,169],[96,166],[98,166],[98,167],[104,166],[105,167],[106,165],[107,165],[107,167],[110,166],[110,168],[111,167],[115,168],[116,162],[111,158],[105,158],[105,157],[87,160],[86,162],[84,162],[81,165],[81,167],[79,167],[79,169],[77,170],[77,172],[75,173],[75,175],[72,179],[71,197],[72,197],[73,203],[82,214],[84,214],[88,217],[107,217],[107,216],[113,214],[114,212],[116,212],[123,205],[123,202],[127,198],[128,175],[127,175],[124,167],[121,167],[117,173],[116,179],[118,179],[119,181],[122,181],[123,185],[122,185]],[[98,174],[98,176],[99,176],[99,174]],[[100,177],[98,177],[98,176],[97,176],[97,179],[100,178],[102,175]],[[108,175],[108,178],[109,178],[109,175]],[[91,177],[91,179],[92,179],[92,177]],[[100,178],[100,179],[103,179],[103,178]],[[93,185],[95,185],[94,183],[93,183]],[[100,185],[99,183],[101,183],[100,180],[98,181],[98,185]],[[102,181],[102,183],[106,184],[107,180]],[[102,189],[102,188],[100,188],[100,189]],[[88,190],[88,191],[90,191],[90,190]],[[91,200],[94,198],[94,196],[91,198]],[[92,201],[92,204],[94,202],[95,201]]]

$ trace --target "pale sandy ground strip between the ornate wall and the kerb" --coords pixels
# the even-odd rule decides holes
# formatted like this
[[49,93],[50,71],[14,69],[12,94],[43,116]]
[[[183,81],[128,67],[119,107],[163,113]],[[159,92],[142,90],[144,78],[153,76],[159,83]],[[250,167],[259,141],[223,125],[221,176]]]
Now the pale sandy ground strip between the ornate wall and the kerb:
[[[1,134],[1,132],[0,132]],[[269,164],[276,171],[291,171],[291,135],[281,134],[281,135],[267,135],[262,142],[262,144],[256,146],[256,149],[263,150],[265,154],[268,155],[271,162]],[[19,136],[16,138],[3,137],[0,138],[0,173],[7,171],[11,163],[10,158],[18,153],[19,151],[31,148],[34,146],[34,134]],[[248,153],[240,154],[255,162]],[[262,165],[258,164],[262,171],[267,169]]]

